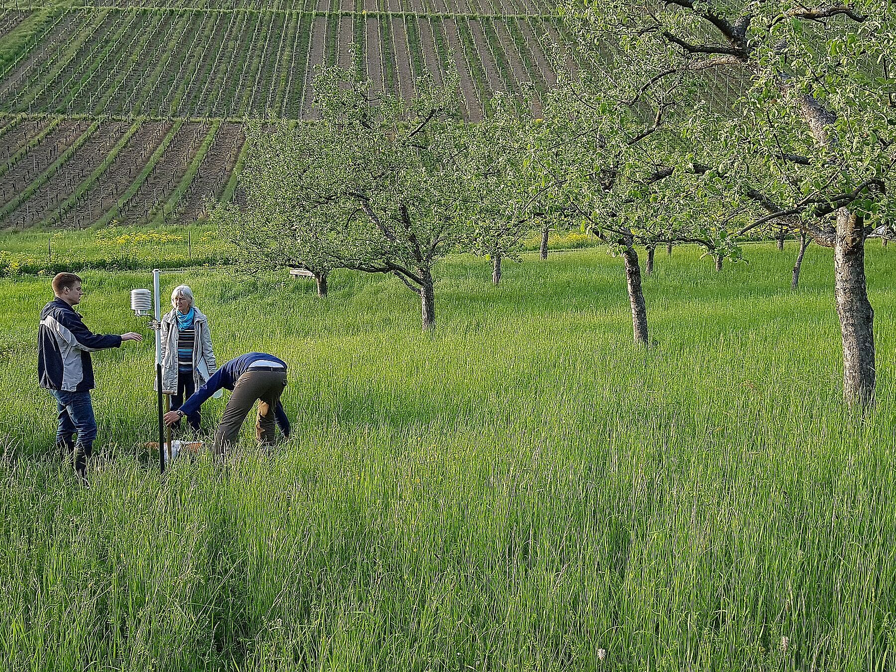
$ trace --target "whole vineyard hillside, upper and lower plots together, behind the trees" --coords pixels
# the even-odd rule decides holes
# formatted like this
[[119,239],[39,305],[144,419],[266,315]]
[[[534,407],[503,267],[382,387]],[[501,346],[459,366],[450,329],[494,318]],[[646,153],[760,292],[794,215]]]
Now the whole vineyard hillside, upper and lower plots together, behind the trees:
[[[28,19],[23,7],[0,9],[0,36]],[[456,67],[472,120],[494,90],[520,100],[530,90],[538,108],[557,79],[555,45],[577,66],[542,0],[258,8],[99,4],[30,22],[0,66],[0,228],[184,223],[210,201],[238,200],[240,121],[313,117],[322,65],[406,99],[426,73],[443,83]]]

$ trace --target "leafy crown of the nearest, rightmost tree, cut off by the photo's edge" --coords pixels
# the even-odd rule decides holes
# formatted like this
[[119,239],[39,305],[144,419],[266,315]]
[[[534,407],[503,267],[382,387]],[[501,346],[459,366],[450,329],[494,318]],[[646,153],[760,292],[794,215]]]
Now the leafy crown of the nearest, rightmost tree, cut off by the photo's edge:
[[674,149],[651,153],[654,165],[686,157],[708,167],[691,180],[676,171],[671,190],[664,181],[630,192],[644,214],[722,221],[728,235],[773,220],[828,245],[840,206],[868,230],[892,216],[892,8],[778,0],[653,12],[618,0],[567,4],[566,13],[578,19],[590,76],[635,117],[653,119],[652,137]]

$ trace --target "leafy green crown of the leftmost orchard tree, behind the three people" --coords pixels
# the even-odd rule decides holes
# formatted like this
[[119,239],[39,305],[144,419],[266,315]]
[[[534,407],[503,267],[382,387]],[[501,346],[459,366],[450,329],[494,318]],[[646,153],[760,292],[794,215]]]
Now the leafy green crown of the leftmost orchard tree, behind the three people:
[[239,177],[247,207],[214,220],[255,268],[389,272],[431,300],[433,266],[460,242],[469,207],[457,165],[466,127],[447,123],[451,82],[421,79],[410,102],[386,93],[374,105],[369,90],[326,68],[314,81],[319,120],[255,123]]

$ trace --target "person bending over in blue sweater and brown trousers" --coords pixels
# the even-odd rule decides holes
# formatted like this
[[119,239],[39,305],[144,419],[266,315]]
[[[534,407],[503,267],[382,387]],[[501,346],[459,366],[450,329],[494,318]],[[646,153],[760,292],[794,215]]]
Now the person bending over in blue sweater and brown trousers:
[[221,365],[209,380],[194,392],[177,410],[165,414],[165,423],[174,425],[177,420],[189,416],[221,389],[233,393],[224,408],[218,430],[215,432],[213,451],[223,455],[237,443],[239,428],[258,401],[258,418],[255,420],[255,436],[259,443],[274,443],[275,425],[285,438],[289,438],[289,419],[280,404],[280,395],[286,389],[286,362],[263,352],[240,355]]

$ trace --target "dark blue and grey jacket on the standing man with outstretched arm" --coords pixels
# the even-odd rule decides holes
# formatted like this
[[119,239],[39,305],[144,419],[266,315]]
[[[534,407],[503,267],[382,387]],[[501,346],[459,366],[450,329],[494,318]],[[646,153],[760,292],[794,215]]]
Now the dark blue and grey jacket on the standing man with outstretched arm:
[[102,336],[91,332],[72,306],[61,298],[53,299],[40,311],[40,386],[63,392],[92,390],[93,363],[90,361],[90,353],[120,345],[121,336]]

